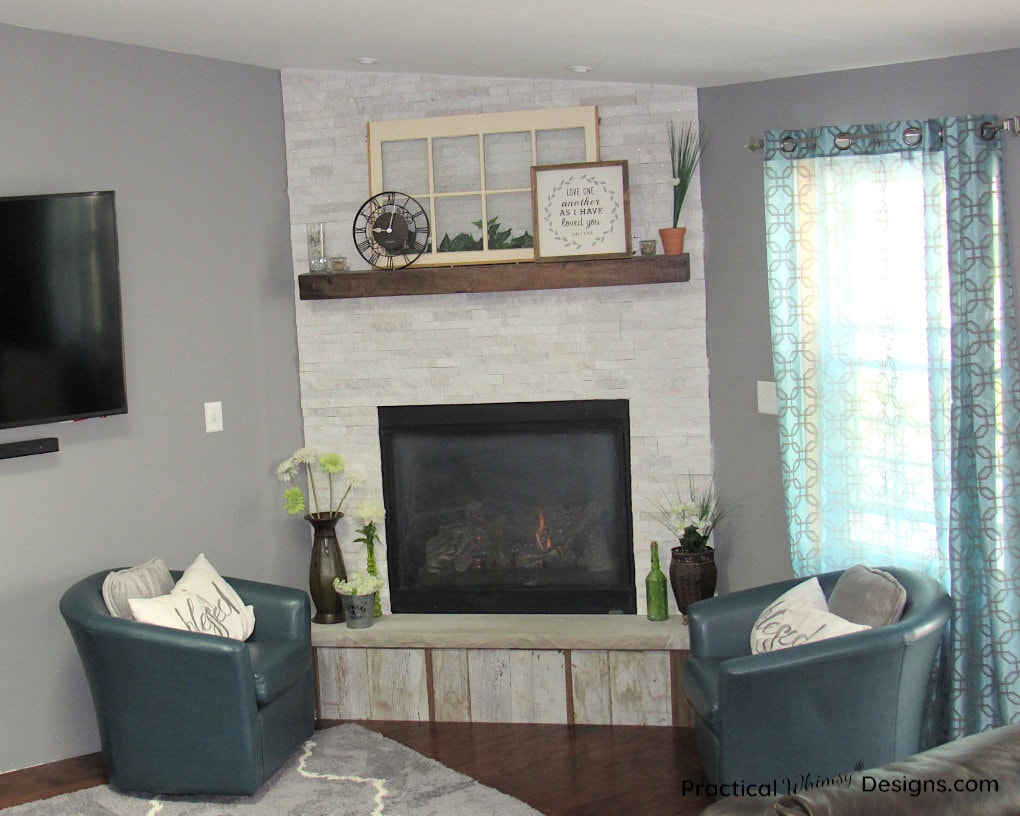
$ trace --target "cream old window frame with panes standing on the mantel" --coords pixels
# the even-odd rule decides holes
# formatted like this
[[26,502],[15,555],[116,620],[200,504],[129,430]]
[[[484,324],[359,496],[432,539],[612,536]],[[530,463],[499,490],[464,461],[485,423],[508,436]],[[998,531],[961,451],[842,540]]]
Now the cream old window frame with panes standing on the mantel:
[[[480,228],[478,238],[482,241],[481,250],[440,252],[440,242],[443,240],[444,230],[442,224],[437,225],[436,215],[448,208],[444,207],[444,199],[464,199],[466,196],[480,195],[480,223],[490,225],[494,218],[503,219],[500,221],[501,228],[499,235],[503,235],[503,227],[513,226],[513,236],[519,236],[522,228],[526,228],[533,238],[533,226],[531,214],[527,213],[526,223],[519,223],[524,213],[519,207],[514,207],[512,212],[500,213],[499,203],[509,201],[504,194],[521,193],[526,194],[530,202],[530,167],[540,162],[543,164],[558,163],[560,156],[551,161],[548,156],[550,145],[553,149],[562,144],[562,150],[568,151],[572,160],[582,154],[581,161],[599,161],[599,110],[596,106],[584,106],[575,108],[554,108],[548,110],[524,110],[510,111],[503,113],[479,113],[465,116],[434,116],[423,119],[395,119],[391,121],[375,121],[368,123],[368,170],[369,170],[369,193],[377,195],[386,192],[389,183],[393,185],[393,180],[407,180],[408,187],[413,189],[400,189],[417,199],[431,220],[431,241],[428,249],[422,253],[421,257],[415,261],[418,266],[438,266],[453,264],[480,264],[480,263],[509,263],[518,261],[534,260],[533,247],[492,249],[489,247],[489,228]],[[486,137],[490,137],[490,151],[494,144],[499,143],[500,135],[526,134],[530,142],[530,153],[525,151],[516,152],[522,162],[521,171],[500,172],[493,180],[492,186],[487,185],[486,172]],[[465,161],[465,165],[476,168],[477,177],[473,174],[467,177],[466,173],[461,173],[463,178],[453,180],[450,173],[443,174],[437,178],[437,166],[442,167],[444,162],[443,148],[449,147],[454,142],[450,140],[463,139],[460,144],[468,144],[468,138],[477,140],[478,157],[474,160]],[[422,142],[424,150],[421,149]],[[434,145],[439,149],[434,153]],[[540,155],[541,154],[541,155]],[[413,156],[415,165],[413,167],[402,168],[396,166],[399,160],[408,160]],[[422,171],[420,160],[423,156],[426,171]],[[490,152],[490,158],[492,153]],[[449,155],[447,155],[447,160]],[[438,160],[436,160],[438,159]],[[526,166],[523,166],[526,163]],[[507,177],[518,177],[521,180],[521,187],[507,187]],[[412,181],[413,180],[413,181]],[[526,184],[524,183],[526,180]],[[449,202],[453,203],[453,202]],[[530,208],[530,204],[528,204]],[[512,218],[512,222],[508,220]],[[473,221],[472,221],[473,224]],[[460,228],[460,225],[456,228]],[[494,233],[495,235],[496,233]]]

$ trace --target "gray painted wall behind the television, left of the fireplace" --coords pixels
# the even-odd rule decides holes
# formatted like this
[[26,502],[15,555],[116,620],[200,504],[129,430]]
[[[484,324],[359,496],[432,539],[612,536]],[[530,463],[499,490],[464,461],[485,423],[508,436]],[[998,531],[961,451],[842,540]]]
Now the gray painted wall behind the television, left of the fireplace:
[[308,539],[272,476],[302,440],[278,72],[0,27],[0,195],[116,191],[130,402],[0,430],[61,448],[0,461],[2,772],[99,749],[65,586],[200,551],[301,586]]

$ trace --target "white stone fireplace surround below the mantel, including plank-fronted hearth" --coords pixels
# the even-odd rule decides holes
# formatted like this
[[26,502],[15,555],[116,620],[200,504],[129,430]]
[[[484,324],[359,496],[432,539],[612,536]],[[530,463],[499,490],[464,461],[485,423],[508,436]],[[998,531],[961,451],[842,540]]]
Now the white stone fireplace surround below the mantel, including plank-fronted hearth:
[[[365,469],[355,504],[381,496],[380,404],[630,407],[639,614],[496,624],[386,615],[364,630],[316,626],[321,717],[688,724],[678,691],[685,627],[675,608],[663,623],[644,618],[644,575],[650,542],[668,541],[650,516],[654,502],[685,486],[688,471],[710,473],[703,304],[696,280],[299,304],[306,439]],[[348,569],[364,565],[356,524],[340,527]],[[385,564],[385,547],[376,555]],[[464,627],[478,625],[468,638]]]

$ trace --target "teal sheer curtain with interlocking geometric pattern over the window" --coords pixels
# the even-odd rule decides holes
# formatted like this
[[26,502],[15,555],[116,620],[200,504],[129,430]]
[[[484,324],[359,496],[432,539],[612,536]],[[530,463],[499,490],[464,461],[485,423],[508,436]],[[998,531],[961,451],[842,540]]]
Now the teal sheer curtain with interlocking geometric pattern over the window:
[[[959,736],[1020,721],[1020,364],[992,117],[766,136],[797,574],[927,571]],[[990,139],[987,137],[991,137]]]

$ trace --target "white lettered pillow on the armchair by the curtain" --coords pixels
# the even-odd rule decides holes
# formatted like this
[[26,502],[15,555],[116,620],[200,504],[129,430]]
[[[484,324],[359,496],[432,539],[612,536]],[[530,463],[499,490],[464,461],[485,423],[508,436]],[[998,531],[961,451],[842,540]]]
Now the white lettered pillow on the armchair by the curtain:
[[809,578],[783,593],[758,616],[751,629],[751,652],[777,652],[869,628],[829,612],[818,578]]

